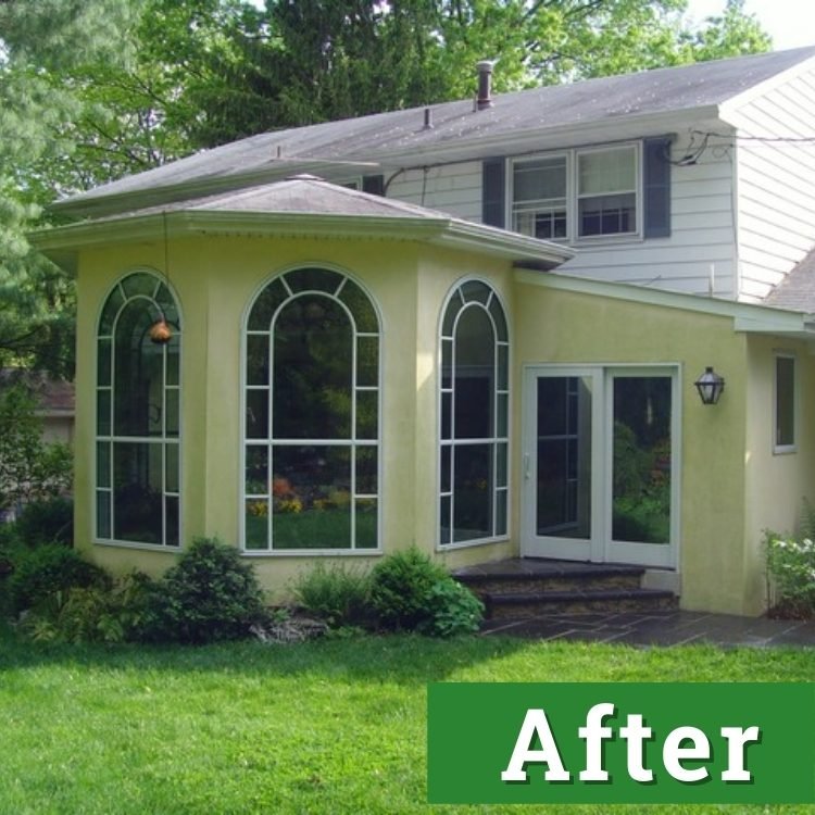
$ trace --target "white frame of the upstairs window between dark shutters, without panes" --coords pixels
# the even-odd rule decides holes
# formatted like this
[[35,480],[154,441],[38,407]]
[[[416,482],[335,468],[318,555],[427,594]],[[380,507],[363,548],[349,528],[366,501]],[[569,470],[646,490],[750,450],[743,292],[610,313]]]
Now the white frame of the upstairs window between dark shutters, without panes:
[[[637,228],[628,233],[614,233],[610,235],[579,235],[579,156],[588,153],[605,153],[615,150],[632,150],[635,161],[635,188],[632,190],[620,190],[622,193],[634,192],[636,197],[635,217]],[[643,196],[642,188],[642,141],[624,141],[613,145],[597,145],[591,147],[572,148],[569,150],[552,150],[530,155],[516,156],[510,159],[509,172],[506,173],[506,223],[513,231],[515,228],[515,189],[514,176],[515,167],[526,162],[538,161],[540,159],[566,156],[566,237],[553,238],[557,243],[568,243],[573,246],[591,246],[594,243],[605,242],[626,242],[631,240],[642,240],[643,237]],[[584,197],[585,198],[585,197]]]

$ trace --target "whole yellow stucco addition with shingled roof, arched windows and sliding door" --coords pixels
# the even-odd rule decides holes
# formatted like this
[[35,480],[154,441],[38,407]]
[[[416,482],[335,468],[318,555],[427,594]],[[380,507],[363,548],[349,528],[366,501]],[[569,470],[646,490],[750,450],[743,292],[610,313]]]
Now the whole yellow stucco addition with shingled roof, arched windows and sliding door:
[[757,614],[762,529],[813,494],[802,314],[561,275],[562,246],[303,176],[35,240],[78,280],[76,544],[117,572],[217,536],[285,592],[415,543]]

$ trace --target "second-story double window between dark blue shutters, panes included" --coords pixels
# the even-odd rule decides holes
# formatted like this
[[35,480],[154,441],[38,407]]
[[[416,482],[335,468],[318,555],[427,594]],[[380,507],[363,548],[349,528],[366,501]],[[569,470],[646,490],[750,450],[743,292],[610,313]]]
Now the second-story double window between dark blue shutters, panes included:
[[638,236],[639,147],[569,150],[512,164],[512,228],[546,240]]

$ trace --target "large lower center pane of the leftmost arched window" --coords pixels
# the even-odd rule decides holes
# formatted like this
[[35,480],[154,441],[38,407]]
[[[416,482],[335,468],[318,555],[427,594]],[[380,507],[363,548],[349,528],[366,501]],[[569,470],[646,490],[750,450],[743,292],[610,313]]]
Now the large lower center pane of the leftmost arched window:
[[116,540],[162,542],[162,444],[113,444],[113,514]]

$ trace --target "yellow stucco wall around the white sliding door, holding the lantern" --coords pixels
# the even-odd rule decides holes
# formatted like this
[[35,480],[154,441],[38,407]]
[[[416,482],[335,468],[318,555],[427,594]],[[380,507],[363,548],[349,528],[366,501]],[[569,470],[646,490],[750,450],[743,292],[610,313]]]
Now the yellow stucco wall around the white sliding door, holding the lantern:
[[[732,319],[523,284],[514,311],[516,393],[524,365],[679,364],[681,606],[757,613],[743,590],[747,349]],[[727,380],[715,408],[693,387],[706,365]]]

